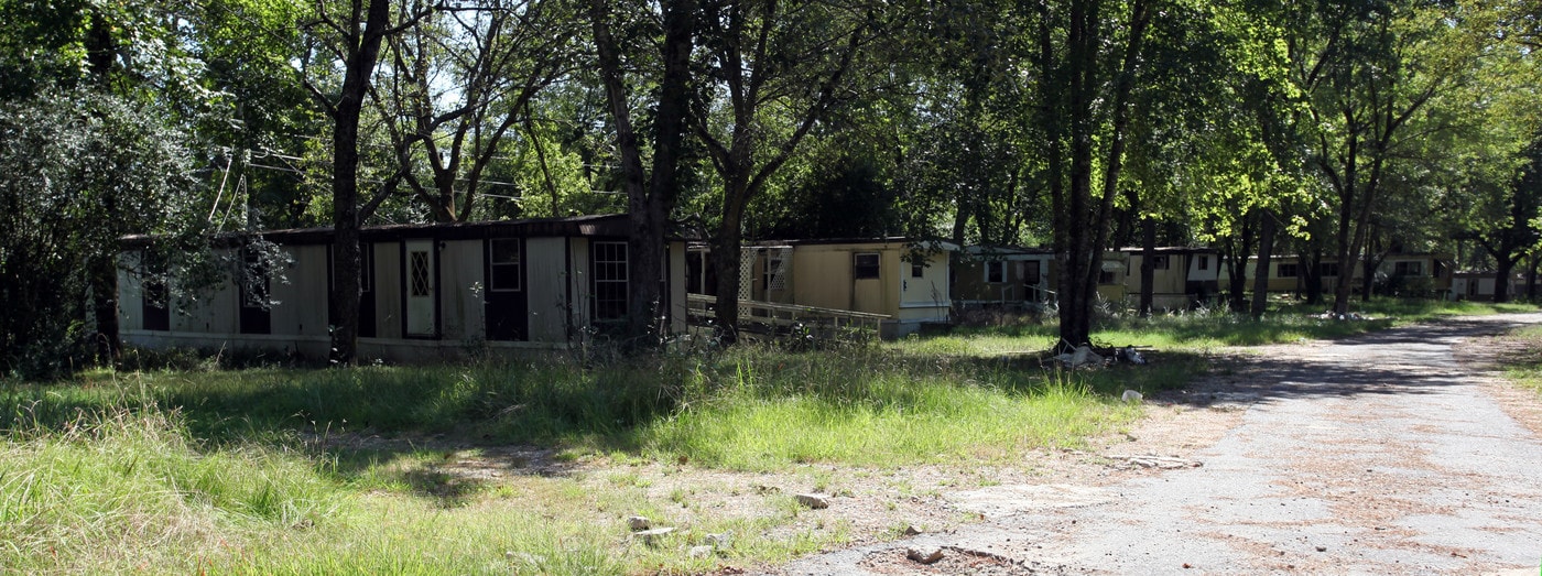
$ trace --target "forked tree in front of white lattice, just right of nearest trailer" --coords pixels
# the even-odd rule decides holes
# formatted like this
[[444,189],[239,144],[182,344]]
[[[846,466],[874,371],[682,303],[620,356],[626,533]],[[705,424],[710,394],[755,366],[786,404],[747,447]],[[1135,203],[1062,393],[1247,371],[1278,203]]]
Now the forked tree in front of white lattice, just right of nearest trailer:
[[692,116],[722,180],[712,234],[715,320],[737,339],[740,245],[749,202],[797,152],[850,89],[848,74],[873,42],[880,6],[703,0],[706,75]]

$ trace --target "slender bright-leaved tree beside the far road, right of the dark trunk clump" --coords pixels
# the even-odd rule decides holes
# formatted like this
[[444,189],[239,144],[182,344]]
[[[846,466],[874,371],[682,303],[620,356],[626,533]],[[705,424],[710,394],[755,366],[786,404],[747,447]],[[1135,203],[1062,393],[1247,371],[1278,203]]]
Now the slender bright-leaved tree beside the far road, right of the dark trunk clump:
[[[1278,8],[1268,14],[1284,14]],[[1342,0],[1300,11],[1288,28],[1291,88],[1305,119],[1297,129],[1335,211],[1342,268],[1334,313],[1349,306],[1357,262],[1392,160],[1443,129],[1425,108],[1470,82],[1491,17],[1420,2]]]

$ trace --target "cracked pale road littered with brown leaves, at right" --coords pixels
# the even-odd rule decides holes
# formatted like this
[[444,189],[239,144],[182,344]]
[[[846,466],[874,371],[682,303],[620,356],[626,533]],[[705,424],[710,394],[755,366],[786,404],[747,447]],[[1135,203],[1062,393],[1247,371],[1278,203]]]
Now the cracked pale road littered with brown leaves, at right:
[[[1542,439],[1453,357],[1465,337],[1536,322],[1463,319],[1271,347],[1246,362],[1247,377],[1186,396],[1244,410],[1186,454],[1200,467],[948,494],[985,521],[777,571],[1537,574]],[[907,548],[947,561],[913,562]]]

